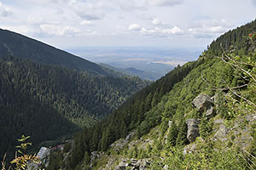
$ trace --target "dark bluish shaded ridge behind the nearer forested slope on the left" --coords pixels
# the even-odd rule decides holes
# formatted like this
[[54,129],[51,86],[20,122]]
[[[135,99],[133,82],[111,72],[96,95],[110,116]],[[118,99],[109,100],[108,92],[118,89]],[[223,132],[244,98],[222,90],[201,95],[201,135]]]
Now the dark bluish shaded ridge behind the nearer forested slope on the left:
[[99,65],[88,60],[18,33],[0,29],[0,57],[8,55],[31,59],[45,65],[62,65],[96,74],[108,74]]

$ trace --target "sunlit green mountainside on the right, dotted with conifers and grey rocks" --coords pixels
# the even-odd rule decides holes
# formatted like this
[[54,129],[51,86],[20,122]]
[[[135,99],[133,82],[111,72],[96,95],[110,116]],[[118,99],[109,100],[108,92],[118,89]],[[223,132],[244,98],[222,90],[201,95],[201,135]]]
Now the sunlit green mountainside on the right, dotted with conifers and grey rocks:
[[48,168],[256,168],[255,23],[218,37],[199,59],[133,95],[74,138],[68,161]]

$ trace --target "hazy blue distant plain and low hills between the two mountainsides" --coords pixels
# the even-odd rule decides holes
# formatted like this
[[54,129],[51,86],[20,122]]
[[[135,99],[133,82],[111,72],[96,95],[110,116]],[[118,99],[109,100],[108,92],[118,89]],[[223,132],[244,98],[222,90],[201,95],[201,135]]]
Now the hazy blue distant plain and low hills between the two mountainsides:
[[157,80],[177,65],[197,59],[203,48],[84,47],[67,51],[126,74]]

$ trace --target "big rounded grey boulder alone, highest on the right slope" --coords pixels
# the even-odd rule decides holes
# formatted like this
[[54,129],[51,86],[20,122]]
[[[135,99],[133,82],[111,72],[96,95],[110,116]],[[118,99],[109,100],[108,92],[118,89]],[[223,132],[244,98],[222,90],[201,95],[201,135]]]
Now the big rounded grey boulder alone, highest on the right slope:
[[192,104],[197,108],[198,111],[204,112],[211,109],[213,105],[212,99],[207,94],[199,94],[193,101]]

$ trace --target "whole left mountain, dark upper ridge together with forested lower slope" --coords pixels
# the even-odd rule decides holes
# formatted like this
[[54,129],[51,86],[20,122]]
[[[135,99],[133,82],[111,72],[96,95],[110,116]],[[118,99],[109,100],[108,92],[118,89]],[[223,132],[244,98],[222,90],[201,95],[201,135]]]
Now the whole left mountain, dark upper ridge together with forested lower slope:
[[73,135],[149,84],[14,32],[0,30],[0,158],[21,134],[34,146]]

